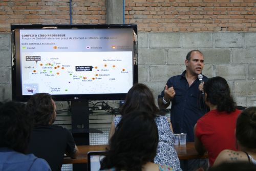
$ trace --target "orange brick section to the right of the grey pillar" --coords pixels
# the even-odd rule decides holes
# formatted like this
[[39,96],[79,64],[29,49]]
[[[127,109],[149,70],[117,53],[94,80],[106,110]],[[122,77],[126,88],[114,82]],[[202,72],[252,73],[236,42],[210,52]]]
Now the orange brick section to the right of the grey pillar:
[[126,0],[139,31],[256,31],[255,0]]

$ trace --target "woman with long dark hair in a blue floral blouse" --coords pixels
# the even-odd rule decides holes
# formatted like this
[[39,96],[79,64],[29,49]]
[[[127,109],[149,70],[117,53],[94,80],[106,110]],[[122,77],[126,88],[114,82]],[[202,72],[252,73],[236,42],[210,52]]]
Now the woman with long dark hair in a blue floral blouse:
[[150,89],[142,83],[135,84],[127,93],[125,103],[121,109],[121,116],[117,116],[111,125],[110,137],[115,132],[115,127],[121,118],[129,112],[141,110],[146,111],[148,115],[154,117],[158,128],[159,143],[157,147],[157,155],[154,162],[161,165],[169,165],[174,169],[180,169],[180,161],[174,148],[174,134],[172,125],[161,112],[154,100],[154,96]]

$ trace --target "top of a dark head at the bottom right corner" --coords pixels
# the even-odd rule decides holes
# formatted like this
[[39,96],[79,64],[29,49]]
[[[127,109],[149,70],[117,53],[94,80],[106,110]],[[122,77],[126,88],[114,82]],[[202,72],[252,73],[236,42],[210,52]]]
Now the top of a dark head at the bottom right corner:
[[255,171],[256,165],[249,162],[221,163],[218,166],[210,167],[208,171]]

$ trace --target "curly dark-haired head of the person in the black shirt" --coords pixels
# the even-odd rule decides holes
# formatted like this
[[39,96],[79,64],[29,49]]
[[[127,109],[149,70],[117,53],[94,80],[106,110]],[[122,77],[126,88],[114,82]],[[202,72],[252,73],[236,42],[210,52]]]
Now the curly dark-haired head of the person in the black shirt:
[[27,102],[26,110],[34,118],[35,125],[49,125],[56,118],[56,105],[52,96],[48,93],[32,95]]

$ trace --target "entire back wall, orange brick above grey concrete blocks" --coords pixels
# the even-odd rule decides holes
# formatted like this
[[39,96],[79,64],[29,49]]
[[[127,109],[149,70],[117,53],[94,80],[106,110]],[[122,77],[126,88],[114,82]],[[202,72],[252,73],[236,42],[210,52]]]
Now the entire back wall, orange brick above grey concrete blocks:
[[[121,0],[74,0],[71,5],[73,24],[121,24]],[[12,97],[10,24],[69,24],[70,4],[36,0],[0,6],[3,101]],[[252,0],[125,1],[125,24],[138,24],[139,82],[157,98],[167,79],[185,70],[187,52],[199,49],[205,56],[203,74],[226,78],[238,105],[256,106],[255,14]]]

